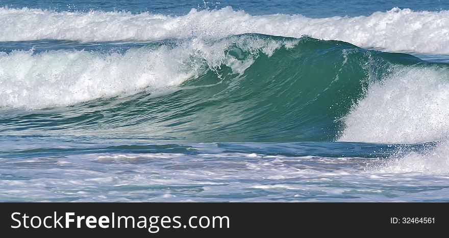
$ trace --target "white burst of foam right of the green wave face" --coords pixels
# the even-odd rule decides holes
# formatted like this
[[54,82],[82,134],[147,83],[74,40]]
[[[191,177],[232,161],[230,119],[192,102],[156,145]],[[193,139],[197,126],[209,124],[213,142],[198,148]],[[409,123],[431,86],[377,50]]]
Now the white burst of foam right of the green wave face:
[[418,143],[449,135],[449,71],[396,67],[344,118],[340,141]]

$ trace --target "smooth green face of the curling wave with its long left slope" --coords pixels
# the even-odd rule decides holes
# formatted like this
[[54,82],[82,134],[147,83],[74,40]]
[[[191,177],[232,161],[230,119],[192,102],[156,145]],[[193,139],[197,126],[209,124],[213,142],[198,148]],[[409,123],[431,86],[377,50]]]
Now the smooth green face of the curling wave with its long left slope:
[[[239,37],[296,40],[235,36]],[[270,56],[243,50],[237,43],[226,47],[224,55],[241,65],[252,64],[240,72],[225,64],[209,68],[162,96],[141,92],[71,107],[11,110],[0,118],[1,129],[15,134],[127,135],[188,142],[332,141],[344,128],[341,118],[363,97],[370,82],[391,73],[392,66],[422,64],[408,54],[310,37]]]

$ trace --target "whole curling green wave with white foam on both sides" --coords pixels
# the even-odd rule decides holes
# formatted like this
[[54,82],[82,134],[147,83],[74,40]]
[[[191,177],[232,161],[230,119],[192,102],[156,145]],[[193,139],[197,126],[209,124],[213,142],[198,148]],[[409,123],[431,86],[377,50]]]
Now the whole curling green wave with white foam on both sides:
[[[246,34],[124,53],[12,51],[0,54],[0,69],[0,106],[28,110],[0,117],[5,132],[197,142],[419,143],[449,135],[447,64],[341,41]],[[27,116],[35,113],[51,115],[48,123]]]

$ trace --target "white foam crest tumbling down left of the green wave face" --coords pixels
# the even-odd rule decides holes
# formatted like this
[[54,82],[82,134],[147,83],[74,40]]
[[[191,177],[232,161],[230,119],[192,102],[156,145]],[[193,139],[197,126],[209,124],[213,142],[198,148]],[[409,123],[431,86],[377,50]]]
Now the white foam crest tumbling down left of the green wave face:
[[[225,53],[231,44],[253,55],[236,59]],[[167,92],[172,92],[173,86],[221,65],[243,73],[259,52],[271,55],[282,44],[243,36],[213,44],[191,39],[176,47],[142,47],[123,54],[84,50],[0,52],[0,107],[40,109],[144,89],[163,93],[171,88]],[[294,42],[286,46],[291,44]]]

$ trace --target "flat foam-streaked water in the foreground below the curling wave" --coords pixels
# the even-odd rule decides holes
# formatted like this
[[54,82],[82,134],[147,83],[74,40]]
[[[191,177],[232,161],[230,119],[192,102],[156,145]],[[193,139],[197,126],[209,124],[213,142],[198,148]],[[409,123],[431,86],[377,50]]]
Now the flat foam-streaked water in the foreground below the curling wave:
[[[13,168],[21,179],[0,180],[0,195],[9,201],[447,200],[444,175],[415,176],[415,171],[387,169],[373,174],[335,158],[323,164],[316,162],[317,157],[279,156],[283,159],[279,162],[261,154],[261,158],[247,155],[107,152],[36,157],[38,162],[32,165],[0,158],[0,173]],[[58,163],[61,160],[70,163]]]

